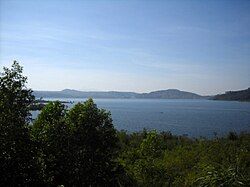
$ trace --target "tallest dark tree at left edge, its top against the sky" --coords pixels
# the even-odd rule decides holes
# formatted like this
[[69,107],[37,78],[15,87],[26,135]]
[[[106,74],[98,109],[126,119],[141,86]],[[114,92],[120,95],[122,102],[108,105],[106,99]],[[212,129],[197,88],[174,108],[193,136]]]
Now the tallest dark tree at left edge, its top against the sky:
[[0,186],[29,185],[37,180],[35,148],[29,136],[29,105],[23,68],[14,61],[0,76]]

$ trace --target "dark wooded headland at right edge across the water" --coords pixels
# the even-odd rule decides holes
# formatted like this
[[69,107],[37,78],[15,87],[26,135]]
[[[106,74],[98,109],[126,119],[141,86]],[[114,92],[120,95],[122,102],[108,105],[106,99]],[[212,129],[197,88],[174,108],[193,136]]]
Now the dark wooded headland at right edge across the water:
[[214,96],[213,99],[226,101],[250,101],[250,88],[239,91],[228,91],[224,94]]

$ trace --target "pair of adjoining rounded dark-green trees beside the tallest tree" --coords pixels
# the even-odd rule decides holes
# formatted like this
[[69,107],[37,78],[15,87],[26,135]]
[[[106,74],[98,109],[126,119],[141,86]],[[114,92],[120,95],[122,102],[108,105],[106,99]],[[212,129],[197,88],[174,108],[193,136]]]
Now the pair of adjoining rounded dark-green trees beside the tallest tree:
[[118,139],[109,112],[92,99],[70,110],[48,103],[32,127],[43,178],[50,185],[109,185],[117,182]]

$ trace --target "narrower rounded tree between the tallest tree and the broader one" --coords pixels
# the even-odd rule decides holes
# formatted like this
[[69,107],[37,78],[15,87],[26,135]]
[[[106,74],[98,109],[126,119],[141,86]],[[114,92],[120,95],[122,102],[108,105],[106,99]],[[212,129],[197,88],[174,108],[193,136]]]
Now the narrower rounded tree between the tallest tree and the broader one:
[[49,185],[67,184],[70,180],[69,126],[66,109],[59,101],[49,102],[32,126],[32,136],[39,149],[40,173]]

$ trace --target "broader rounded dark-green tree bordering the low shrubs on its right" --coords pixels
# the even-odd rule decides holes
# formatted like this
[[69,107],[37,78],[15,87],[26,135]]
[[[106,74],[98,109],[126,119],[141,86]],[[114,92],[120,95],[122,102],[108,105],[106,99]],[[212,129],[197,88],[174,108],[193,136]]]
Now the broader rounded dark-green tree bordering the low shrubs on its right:
[[109,112],[98,109],[92,99],[76,104],[68,113],[72,129],[72,184],[77,186],[116,183],[115,157],[118,138]]

